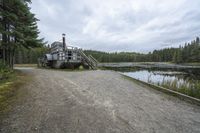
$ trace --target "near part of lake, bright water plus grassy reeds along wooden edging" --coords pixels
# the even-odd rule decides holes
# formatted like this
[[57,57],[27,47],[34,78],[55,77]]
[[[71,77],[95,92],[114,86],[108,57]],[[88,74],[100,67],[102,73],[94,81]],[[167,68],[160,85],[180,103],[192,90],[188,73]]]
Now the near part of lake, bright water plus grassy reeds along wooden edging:
[[199,74],[174,70],[131,70],[122,72],[124,75],[162,86],[183,94],[200,98]]

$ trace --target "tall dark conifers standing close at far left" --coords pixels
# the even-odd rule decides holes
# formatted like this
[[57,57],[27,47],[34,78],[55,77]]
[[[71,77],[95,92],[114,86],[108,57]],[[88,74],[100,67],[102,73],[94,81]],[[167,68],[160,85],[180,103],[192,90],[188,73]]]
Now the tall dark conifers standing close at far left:
[[31,0],[0,0],[0,59],[10,68],[17,50],[44,45],[43,39],[38,39],[38,19],[31,13],[30,3]]

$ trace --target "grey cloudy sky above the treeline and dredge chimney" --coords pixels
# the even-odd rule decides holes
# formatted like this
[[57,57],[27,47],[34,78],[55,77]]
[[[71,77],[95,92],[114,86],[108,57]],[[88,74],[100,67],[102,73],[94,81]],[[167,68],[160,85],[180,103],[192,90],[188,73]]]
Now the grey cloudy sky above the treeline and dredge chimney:
[[41,37],[70,44],[148,52],[200,35],[200,0],[33,0]]

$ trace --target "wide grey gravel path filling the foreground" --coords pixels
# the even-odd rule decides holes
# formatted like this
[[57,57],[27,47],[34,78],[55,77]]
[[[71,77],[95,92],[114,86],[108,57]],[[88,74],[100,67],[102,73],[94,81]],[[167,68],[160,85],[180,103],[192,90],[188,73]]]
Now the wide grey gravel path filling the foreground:
[[34,75],[2,133],[200,132],[200,107],[111,71],[21,69]]

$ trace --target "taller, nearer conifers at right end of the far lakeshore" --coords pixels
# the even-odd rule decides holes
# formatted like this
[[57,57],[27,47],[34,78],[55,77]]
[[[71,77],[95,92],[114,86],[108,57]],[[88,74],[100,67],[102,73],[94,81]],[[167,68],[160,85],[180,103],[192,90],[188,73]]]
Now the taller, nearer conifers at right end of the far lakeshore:
[[179,48],[166,48],[162,50],[154,50],[147,54],[148,61],[155,62],[174,62],[174,63],[190,63],[200,62],[200,40],[196,37],[195,40],[185,45],[180,45]]

